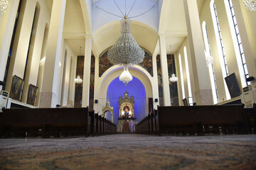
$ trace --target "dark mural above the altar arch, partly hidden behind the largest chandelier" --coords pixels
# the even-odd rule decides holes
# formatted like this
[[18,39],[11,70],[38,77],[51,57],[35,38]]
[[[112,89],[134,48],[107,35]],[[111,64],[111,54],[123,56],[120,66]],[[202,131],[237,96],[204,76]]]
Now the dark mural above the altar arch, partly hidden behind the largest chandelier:
[[[110,67],[113,66],[113,64],[110,62],[110,60],[107,57],[107,52],[104,52],[101,56],[100,56],[100,62],[99,62],[99,77],[102,76],[102,74],[104,74],[104,72],[109,69]],[[144,60],[142,61],[142,63],[139,64],[141,67],[143,67],[144,69],[146,69],[146,71],[149,72],[149,74],[151,75],[151,77],[153,77],[153,64],[152,64],[152,56],[149,55],[148,52],[145,51],[145,57]]]

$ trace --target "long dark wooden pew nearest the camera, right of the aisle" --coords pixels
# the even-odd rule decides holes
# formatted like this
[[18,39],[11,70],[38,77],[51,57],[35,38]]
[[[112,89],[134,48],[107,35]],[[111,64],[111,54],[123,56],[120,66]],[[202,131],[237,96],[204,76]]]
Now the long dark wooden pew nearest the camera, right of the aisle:
[[[243,127],[243,106],[166,106],[158,107],[159,135],[164,133],[233,133]],[[221,129],[220,129],[221,127]]]

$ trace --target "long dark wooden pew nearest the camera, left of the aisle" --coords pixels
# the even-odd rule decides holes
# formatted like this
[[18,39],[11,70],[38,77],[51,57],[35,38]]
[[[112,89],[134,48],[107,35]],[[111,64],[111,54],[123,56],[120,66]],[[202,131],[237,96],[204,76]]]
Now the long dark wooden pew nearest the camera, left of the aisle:
[[90,135],[88,108],[4,109],[5,137]]

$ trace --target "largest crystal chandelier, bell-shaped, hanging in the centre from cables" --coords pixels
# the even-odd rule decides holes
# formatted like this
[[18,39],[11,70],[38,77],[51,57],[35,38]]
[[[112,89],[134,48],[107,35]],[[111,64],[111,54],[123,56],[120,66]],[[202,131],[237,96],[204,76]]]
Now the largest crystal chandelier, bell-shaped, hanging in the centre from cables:
[[132,64],[139,64],[144,59],[145,52],[132,37],[130,25],[131,21],[127,16],[124,16],[121,21],[121,36],[107,52],[107,56],[112,64],[128,67]]

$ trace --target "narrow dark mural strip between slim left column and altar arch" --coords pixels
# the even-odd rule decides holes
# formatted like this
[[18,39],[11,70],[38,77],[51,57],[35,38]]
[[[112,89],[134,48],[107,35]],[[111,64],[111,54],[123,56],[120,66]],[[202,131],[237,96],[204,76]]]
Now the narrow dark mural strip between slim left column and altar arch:
[[93,111],[94,84],[95,84],[95,57],[92,56],[92,58],[91,58],[91,70],[90,70],[90,101],[89,101],[89,111]]

